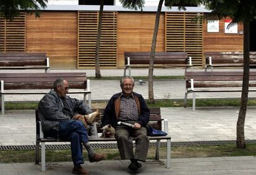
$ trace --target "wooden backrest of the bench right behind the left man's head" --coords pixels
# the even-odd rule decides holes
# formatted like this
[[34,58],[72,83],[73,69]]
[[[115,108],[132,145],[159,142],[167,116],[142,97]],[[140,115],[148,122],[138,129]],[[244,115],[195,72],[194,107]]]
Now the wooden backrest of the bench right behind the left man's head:
[[70,89],[86,89],[86,73],[0,73],[4,89],[53,89],[57,78],[69,82]]

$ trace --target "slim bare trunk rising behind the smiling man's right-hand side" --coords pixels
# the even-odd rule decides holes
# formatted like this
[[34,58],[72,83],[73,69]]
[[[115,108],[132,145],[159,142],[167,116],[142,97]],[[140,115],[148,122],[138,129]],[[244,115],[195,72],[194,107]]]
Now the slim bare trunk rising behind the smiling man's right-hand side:
[[150,65],[148,68],[148,102],[151,104],[155,103],[154,91],[153,91],[153,66],[154,66],[155,52],[156,52],[156,38],[158,34],[160,12],[163,6],[163,1],[164,0],[159,1],[158,9],[156,12],[155,28],[154,28],[153,39],[151,44],[151,52],[150,52]]

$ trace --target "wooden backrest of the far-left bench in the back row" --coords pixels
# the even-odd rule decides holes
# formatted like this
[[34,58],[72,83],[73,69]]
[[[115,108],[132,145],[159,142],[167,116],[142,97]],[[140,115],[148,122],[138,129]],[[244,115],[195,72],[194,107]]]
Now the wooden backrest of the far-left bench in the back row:
[[47,55],[41,53],[4,53],[0,54],[1,67],[21,67],[21,66],[47,66]]

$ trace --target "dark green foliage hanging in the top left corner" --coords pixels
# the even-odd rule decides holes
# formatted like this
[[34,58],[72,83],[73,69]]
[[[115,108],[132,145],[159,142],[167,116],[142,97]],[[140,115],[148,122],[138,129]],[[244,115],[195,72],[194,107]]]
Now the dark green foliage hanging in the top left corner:
[[20,16],[20,10],[27,13],[35,12],[36,17],[40,17],[39,10],[45,9],[48,0],[0,0],[0,16],[7,20],[12,20]]

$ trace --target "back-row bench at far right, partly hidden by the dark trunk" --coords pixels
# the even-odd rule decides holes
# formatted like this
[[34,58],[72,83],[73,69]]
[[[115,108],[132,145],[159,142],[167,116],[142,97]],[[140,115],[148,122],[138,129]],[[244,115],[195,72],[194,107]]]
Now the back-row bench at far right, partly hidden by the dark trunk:
[[[243,67],[243,52],[205,52],[205,70],[214,67]],[[256,67],[256,52],[250,52],[250,67]]]

